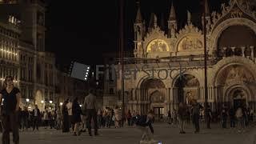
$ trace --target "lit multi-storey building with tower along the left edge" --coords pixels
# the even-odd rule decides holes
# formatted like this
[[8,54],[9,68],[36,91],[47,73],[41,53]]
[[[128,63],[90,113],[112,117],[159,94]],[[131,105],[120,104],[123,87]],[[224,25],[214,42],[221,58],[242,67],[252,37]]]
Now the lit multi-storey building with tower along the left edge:
[[[22,94],[21,106],[54,107],[54,54],[45,51],[43,1],[0,1],[1,87],[13,75]],[[26,102],[26,99],[29,102]]]

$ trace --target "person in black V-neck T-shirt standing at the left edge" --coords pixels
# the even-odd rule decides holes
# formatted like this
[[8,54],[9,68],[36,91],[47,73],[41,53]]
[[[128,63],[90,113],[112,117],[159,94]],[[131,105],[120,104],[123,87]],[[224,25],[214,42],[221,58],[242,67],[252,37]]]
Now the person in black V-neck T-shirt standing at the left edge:
[[[0,92],[0,114],[2,115],[2,144],[10,144],[10,131],[13,133],[14,144],[19,143],[18,134],[18,109],[20,104],[21,93],[14,86],[14,78],[7,76],[4,81],[6,86]],[[3,99],[3,102],[2,102]]]

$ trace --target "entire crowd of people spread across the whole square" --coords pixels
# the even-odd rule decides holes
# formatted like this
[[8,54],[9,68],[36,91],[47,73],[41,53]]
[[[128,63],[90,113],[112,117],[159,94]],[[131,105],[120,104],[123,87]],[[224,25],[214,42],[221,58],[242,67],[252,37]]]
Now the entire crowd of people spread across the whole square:
[[[19,143],[19,130],[39,130],[39,127],[44,129],[62,130],[63,133],[72,132],[74,136],[81,135],[82,132],[92,136],[98,135],[98,128],[120,128],[125,125],[136,126],[143,132],[143,138],[151,139],[151,134],[154,134],[154,110],[149,110],[148,114],[140,114],[138,111],[127,110],[123,114],[122,108],[115,106],[114,109],[106,107],[105,109],[97,109],[96,96],[94,89],[89,90],[82,106],[78,104],[78,98],[66,99],[62,106],[56,107],[54,110],[40,111],[38,106],[34,110],[28,110],[25,106],[23,109],[19,107],[21,94],[17,87],[14,87],[13,78],[8,76],[4,82],[6,88],[0,92],[0,130],[2,131],[2,143],[10,143],[10,131],[13,133],[14,144]],[[2,102],[3,99],[3,102]],[[206,112],[204,112],[206,110]],[[228,108],[223,105],[220,110],[215,110],[213,113],[210,106],[206,109],[196,100],[191,102],[191,106],[186,106],[180,103],[178,110],[168,112],[168,123],[170,125],[178,124],[180,134],[186,134],[184,125],[190,124],[192,121],[195,131],[200,131],[200,120],[204,119],[207,123],[207,128],[210,129],[211,122],[221,122],[222,128],[227,128],[227,122],[230,122],[230,127],[237,127],[238,132],[242,132],[250,122],[254,122],[254,110],[248,106],[240,105],[237,107]],[[206,117],[205,117],[206,116]],[[160,118],[163,118],[162,116]]]

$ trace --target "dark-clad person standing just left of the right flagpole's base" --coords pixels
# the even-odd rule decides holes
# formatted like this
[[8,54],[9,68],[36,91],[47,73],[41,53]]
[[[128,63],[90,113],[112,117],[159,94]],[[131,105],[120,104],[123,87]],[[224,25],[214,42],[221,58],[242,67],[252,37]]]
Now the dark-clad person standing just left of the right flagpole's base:
[[192,119],[195,127],[194,133],[199,133],[199,130],[200,130],[199,118],[200,118],[200,110],[202,108],[203,107],[196,100],[192,102]]

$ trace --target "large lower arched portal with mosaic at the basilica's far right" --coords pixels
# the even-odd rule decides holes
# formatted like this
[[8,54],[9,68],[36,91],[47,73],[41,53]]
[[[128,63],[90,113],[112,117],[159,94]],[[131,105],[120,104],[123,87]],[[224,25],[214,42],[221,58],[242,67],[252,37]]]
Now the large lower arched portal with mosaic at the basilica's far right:
[[[236,100],[243,105],[254,106],[255,74],[250,65],[242,62],[230,62],[215,75],[214,86],[217,87],[217,100],[227,106],[235,106]],[[241,103],[241,102],[240,102]]]

